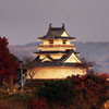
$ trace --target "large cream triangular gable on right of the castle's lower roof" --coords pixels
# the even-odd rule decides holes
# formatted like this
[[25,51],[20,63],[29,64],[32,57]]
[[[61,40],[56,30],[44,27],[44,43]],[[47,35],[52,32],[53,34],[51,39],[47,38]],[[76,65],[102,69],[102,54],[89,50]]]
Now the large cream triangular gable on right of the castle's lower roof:
[[82,63],[81,60],[77,59],[77,57],[72,53],[65,61],[64,63]]

